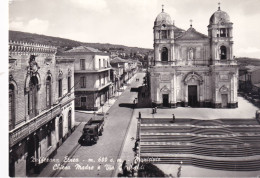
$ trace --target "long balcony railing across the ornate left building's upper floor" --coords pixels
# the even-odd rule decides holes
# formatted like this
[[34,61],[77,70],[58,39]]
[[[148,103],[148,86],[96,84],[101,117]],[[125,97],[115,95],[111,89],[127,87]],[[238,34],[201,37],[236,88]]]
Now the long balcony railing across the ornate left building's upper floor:
[[18,143],[26,136],[28,136],[29,134],[33,133],[35,130],[40,128],[42,125],[46,124],[53,117],[60,114],[60,112],[61,112],[61,108],[60,108],[60,104],[58,104],[48,109],[47,111],[44,111],[43,113],[36,116],[35,118],[27,121],[23,125],[11,130],[9,132],[9,145],[13,146],[14,144]]

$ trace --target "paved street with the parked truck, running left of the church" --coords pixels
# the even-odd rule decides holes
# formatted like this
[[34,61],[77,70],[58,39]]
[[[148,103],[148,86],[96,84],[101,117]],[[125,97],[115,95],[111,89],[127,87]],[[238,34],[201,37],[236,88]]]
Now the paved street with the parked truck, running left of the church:
[[[135,78],[139,78],[136,82]],[[84,124],[82,117],[80,124],[73,134],[59,148],[66,150],[65,159],[60,164],[49,163],[39,176],[55,177],[111,177],[113,176],[115,164],[119,160],[124,140],[130,126],[133,114],[133,100],[137,98],[136,92],[130,92],[131,87],[142,85],[144,73],[138,73],[133,77],[130,86],[122,93],[117,101],[108,110],[103,135],[99,137],[97,144],[92,146],[81,146],[78,139]],[[77,115],[76,115],[76,121]],[[133,145],[134,146],[134,145]],[[68,147],[66,149],[66,147]],[[63,153],[64,154],[64,153]],[[67,155],[67,157],[66,157]],[[54,156],[59,156],[58,154]],[[61,156],[59,156],[61,157]],[[61,158],[60,158],[61,159]]]

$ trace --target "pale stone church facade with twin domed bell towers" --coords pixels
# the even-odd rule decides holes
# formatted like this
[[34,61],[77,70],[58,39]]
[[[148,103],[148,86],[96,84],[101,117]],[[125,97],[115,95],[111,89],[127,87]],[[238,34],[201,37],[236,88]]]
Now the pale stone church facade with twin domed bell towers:
[[208,36],[192,25],[185,31],[162,9],[154,22],[154,59],[149,69],[153,106],[238,106],[232,26],[219,7],[210,17]]

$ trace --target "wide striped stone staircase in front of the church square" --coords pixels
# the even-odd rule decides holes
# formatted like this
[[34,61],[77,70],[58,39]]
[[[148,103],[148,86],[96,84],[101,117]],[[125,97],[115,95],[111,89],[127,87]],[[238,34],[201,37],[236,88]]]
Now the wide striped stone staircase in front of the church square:
[[156,164],[227,171],[260,170],[260,125],[253,119],[143,118],[140,154]]

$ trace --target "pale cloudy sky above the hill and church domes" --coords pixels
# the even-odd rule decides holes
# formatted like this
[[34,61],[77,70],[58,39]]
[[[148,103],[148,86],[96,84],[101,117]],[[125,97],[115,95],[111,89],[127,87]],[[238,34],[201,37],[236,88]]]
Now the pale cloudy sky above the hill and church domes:
[[78,40],[153,48],[153,24],[164,11],[175,25],[208,34],[210,16],[227,12],[234,55],[260,58],[260,0],[9,0],[9,29]]

